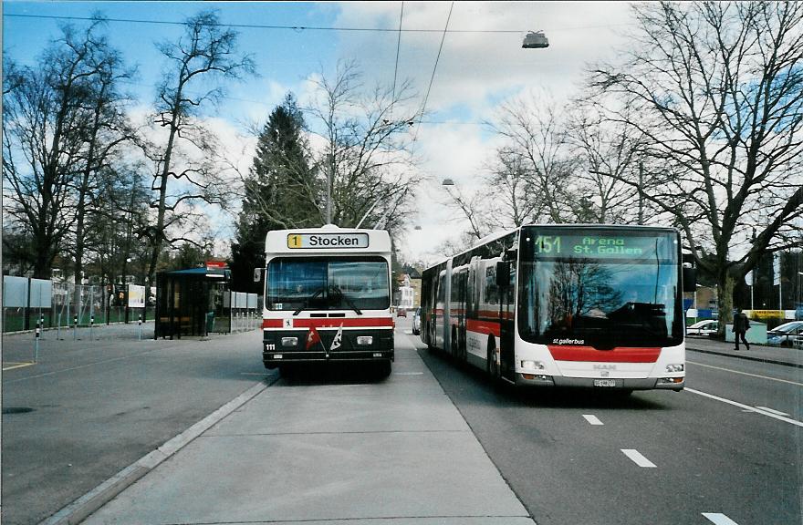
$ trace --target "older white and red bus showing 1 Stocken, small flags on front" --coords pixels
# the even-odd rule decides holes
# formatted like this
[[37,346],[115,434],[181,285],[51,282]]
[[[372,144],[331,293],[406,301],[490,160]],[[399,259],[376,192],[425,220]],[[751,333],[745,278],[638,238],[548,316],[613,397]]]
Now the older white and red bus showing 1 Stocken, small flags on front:
[[381,230],[278,230],[266,236],[266,368],[375,362],[391,373],[391,238]]

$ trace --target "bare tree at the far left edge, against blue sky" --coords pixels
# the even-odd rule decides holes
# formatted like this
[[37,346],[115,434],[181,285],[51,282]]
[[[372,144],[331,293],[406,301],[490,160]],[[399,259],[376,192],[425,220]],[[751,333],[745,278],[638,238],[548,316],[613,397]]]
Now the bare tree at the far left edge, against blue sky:
[[95,20],[78,31],[63,26],[37,67],[14,67],[4,79],[5,211],[32,241],[34,276],[50,277],[71,230],[74,181],[85,165],[86,129],[98,58],[108,52]]

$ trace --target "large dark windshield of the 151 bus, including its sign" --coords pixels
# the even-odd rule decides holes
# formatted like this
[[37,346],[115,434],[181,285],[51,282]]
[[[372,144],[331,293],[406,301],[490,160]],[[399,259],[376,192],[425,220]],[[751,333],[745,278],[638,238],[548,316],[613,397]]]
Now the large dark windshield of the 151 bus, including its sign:
[[526,228],[519,334],[543,345],[663,347],[683,341],[673,232]]

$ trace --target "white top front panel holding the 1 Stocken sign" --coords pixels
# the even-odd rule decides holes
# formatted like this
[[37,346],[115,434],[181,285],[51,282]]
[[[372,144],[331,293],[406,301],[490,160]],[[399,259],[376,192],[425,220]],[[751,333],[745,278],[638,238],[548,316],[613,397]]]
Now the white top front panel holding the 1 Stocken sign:
[[327,224],[320,228],[273,230],[265,238],[266,255],[308,256],[342,253],[391,253],[391,236],[384,230],[339,228]]

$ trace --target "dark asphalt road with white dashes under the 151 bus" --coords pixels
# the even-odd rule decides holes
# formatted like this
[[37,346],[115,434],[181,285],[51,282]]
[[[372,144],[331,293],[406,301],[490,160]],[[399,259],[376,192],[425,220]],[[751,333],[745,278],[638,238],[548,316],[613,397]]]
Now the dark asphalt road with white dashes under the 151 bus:
[[539,525],[803,521],[801,428],[772,417],[801,420],[799,368],[689,352],[681,393],[510,392],[410,341]]

